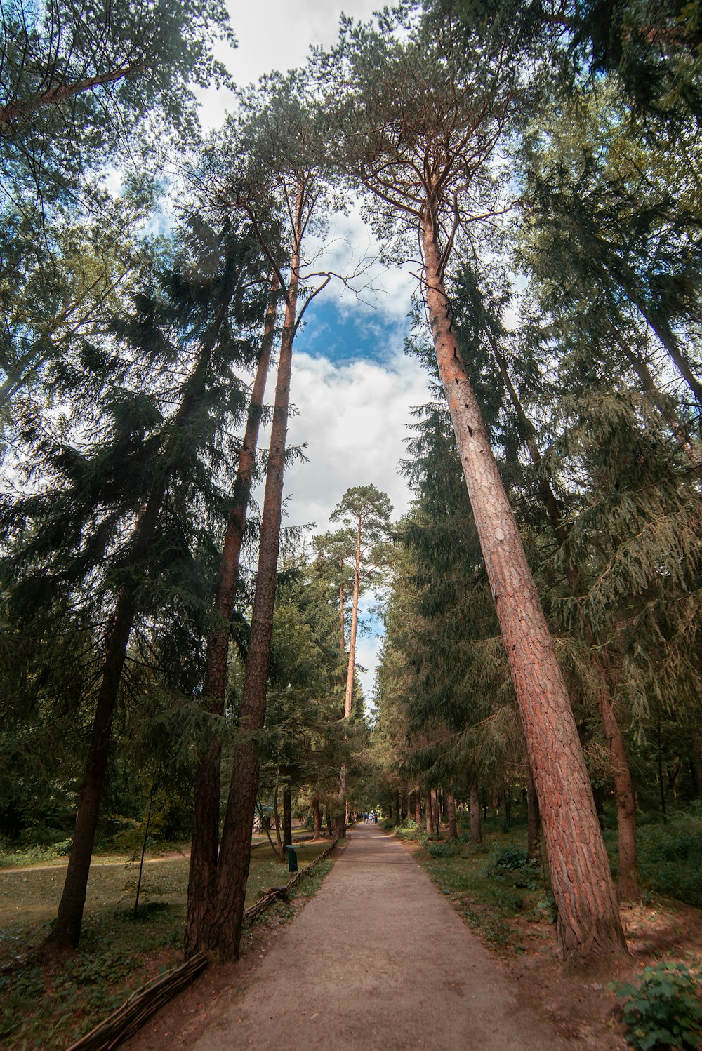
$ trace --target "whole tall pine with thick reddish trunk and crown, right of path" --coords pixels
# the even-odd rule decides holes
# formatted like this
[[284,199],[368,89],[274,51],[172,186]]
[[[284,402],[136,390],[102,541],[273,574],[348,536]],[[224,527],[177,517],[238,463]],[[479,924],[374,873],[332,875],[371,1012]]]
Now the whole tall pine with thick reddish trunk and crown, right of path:
[[438,370],[539,792],[560,949],[582,963],[626,951],[621,921],[570,698],[443,284],[461,231],[500,208],[488,159],[513,85],[499,62],[478,54],[468,77],[455,50],[448,26],[438,39],[421,28],[401,40],[368,26],[346,33],[336,81],[351,128],[346,167],[386,224],[402,221],[419,241]]

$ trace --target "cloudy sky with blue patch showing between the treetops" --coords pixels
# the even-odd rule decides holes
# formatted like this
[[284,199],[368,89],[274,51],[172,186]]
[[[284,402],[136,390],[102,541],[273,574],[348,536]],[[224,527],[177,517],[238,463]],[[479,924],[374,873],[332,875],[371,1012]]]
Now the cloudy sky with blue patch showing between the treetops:
[[[366,19],[378,6],[378,0],[347,0],[346,5],[337,0],[230,0],[239,47],[219,57],[238,83],[247,84],[271,69],[304,63],[311,44],[331,45],[344,9]],[[201,98],[203,124],[218,126],[231,96],[208,91]],[[346,253],[352,270],[354,257],[372,257],[377,250],[355,211],[332,220],[328,242],[335,269],[342,266],[339,254]],[[346,490],[371,482],[389,495],[396,516],[408,508],[410,494],[397,466],[411,408],[427,400],[425,374],[402,354],[415,282],[409,269],[385,271],[379,265],[372,267],[370,277],[373,291],[362,298],[343,286],[328,287],[310,305],[295,343],[289,440],[306,444],[308,462],[286,475],[290,524],[313,521],[327,529]],[[369,669],[362,677],[367,698],[377,646],[375,636],[359,639],[356,659]]]

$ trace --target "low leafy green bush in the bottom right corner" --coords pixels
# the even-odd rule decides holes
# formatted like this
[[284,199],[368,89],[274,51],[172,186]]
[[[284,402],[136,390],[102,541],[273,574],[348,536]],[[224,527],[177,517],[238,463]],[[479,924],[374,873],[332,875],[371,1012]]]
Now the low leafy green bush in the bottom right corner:
[[638,985],[611,983],[607,987],[625,998],[622,1018],[626,1040],[637,1051],[682,1051],[702,1043],[702,1003],[699,971],[684,964],[663,963],[644,967]]

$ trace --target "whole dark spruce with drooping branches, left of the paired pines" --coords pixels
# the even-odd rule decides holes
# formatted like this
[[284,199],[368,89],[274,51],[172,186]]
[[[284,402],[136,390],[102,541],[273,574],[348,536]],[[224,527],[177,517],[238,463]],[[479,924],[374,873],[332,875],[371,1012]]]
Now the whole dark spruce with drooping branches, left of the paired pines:
[[[240,326],[248,324],[256,310],[255,297],[250,293],[250,279],[259,265],[256,253],[251,251],[251,242],[235,228],[225,227],[219,238],[201,228],[199,238],[200,259],[204,244],[208,265],[212,254],[219,254],[219,270],[215,267],[208,276],[199,272],[199,260],[184,259],[180,269],[177,266],[170,275],[166,271],[157,279],[157,284],[161,283],[158,294],[139,293],[139,313],[133,321],[116,323],[118,335],[127,343],[130,353],[131,349],[136,351],[135,365],[127,369],[130,379],[138,379],[140,372],[142,380],[145,378],[149,355],[160,363],[160,368],[167,363],[172,370],[173,362],[178,363],[184,352],[192,352],[192,367],[180,391],[157,388],[150,396],[148,388],[133,393],[118,390],[113,398],[123,417],[120,427],[111,433],[108,430],[106,440],[87,454],[68,444],[43,450],[44,470],[55,475],[60,471],[63,485],[50,494],[7,504],[12,524],[21,526],[34,514],[39,527],[29,542],[26,530],[20,529],[18,544],[11,553],[13,560],[21,559],[26,566],[21,598],[24,603],[30,607],[33,599],[27,588],[42,570],[45,582],[45,574],[50,572],[46,600],[51,589],[60,590],[62,580],[73,580],[79,589],[89,584],[101,559],[101,601],[109,602],[110,593],[113,596],[105,625],[102,668],[96,676],[96,708],[66,884],[50,935],[61,947],[75,945],[80,936],[110,727],[131,630],[148,601],[146,596],[154,591],[154,584],[158,588],[159,573],[167,565],[164,558],[173,557],[174,537],[169,535],[170,524],[164,524],[168,517],[163,513],[164,501],[182,476],[187,476],[191,489],[209,487],[210,472],[203,471],[199,457],[209,453],[227,414],[232,409],[241,411],[241,389],[231,385],[231,366],[250,353]],[[246,295],[245,289],[249,290]],[[110,364],[109,351],[102,357]],[[129,354],[125,355],[128,359]],[[94,355],[89,363],[96,370],[90,379],[98,389],[104,383],[104,376],[97,372],[100,357]],[[89,397],[86,378],[82,385],[77,383],[70,358],[61,369],[64,389],[82,388],[83,399]],[[149,378],[153,383],[154,373]],[[173,393],[181,398],[170,418],[159,418],[157,406],[164,393],[166,398]],[[141,419],[136,413],[141,413]],[[59,549],[53,550],[57,540]]]

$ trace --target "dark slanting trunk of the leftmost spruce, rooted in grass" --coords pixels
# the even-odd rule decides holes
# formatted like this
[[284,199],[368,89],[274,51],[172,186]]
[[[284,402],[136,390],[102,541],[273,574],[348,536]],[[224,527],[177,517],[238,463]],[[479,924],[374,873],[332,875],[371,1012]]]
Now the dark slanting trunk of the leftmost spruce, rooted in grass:
[[98,818],[100,816],[102,790],[107,776],[112,717],[122,681],[129,636],[131,635],[131,628],[139,607],[141,575],[138,572],[138,568],[148,554],[156,535],[166,489],[174,469],[172,456],[178,432],[188,423],[193,411],[200,404],[207,379],[211,352],[227,315],[233,290],[234,283],[232,282],[228,294],[225,295],[212,323],[212,328],[202,345],[198,362],[187,382],[183,400],[173,419],[173,433],[163,452],[163,470],[160,472],[158,480],[153,483],[144,510],[135,527],[129,551],[129,565],[132,569],[132,573],[130,574],[129,582],[123,586],[119,595],[110,619],[98,701],[90,730],[85,778],[81,785],[78,800],[76,828],[68,858],[68,868],[66,870],[66,879],[61,902],[59,903],[56,923],[47,939],[48,942],[60,948],[75,947],[81,935],[92,847],[98,827]]

